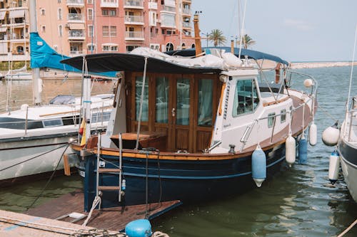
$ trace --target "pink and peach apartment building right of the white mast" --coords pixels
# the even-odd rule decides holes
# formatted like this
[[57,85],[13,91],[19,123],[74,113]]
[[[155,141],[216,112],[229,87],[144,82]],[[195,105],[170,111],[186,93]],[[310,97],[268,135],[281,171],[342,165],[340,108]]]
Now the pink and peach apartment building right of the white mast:
[[37,0],[39,35],[58,53],[194,47],[191,0]]

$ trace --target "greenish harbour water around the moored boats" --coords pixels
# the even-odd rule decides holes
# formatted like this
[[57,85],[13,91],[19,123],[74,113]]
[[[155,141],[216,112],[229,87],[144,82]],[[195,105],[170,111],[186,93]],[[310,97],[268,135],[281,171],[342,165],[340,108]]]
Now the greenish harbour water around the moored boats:
[[[350,70],[347,67],[299,70],[313,75],[319,83],[316,115],[318,144],[308,148],[308,164],[295,164],[286,172],[265,181],[260,189],[240,196],[222,196],[222,199],[212,203],[178,207],[152,221],[153,230],[168,233],[171,237],[337,236],[344,231],[357,218],[357,204],[349,196],[342,176],[335,186],[329,184],[328,157],[333,148],[323,145],[321,133],[333,124],[334,120],[330,117],[343,120]],[[61,82],[46,83],[49,85],[44,90],[57,89]],[[25,90],[31,98],[31,83],[28,84],[16,85],[17,93],[14,95],[23,99]],[[79,88],[76,84],[79,84],[78,81],[67,90]],[[98,85],[103,89],[106,84]],[[352,95],[357,94],[356,89],[357,86],[353,88]],[[0,94],[5,95],[4,91],[5,85],[0,85]],[[44,184],[46,181],[38,181],[1,189],[0,209],[25,211]],[[77,176],[54,179],[36,204],[81,186],[81,179]],[[345,236],[357,236],[357,226]]]

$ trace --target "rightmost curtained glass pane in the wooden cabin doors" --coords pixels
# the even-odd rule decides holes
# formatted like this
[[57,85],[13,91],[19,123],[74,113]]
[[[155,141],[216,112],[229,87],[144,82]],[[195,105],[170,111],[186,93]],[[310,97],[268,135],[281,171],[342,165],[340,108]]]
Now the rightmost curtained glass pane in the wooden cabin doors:
[[213,80],[198,80],[198,126],[212,125]]

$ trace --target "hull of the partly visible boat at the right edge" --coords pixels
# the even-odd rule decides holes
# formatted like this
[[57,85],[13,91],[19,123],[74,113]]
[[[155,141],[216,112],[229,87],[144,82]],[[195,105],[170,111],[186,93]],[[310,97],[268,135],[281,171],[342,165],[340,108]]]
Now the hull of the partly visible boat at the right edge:
[[353,200],[357,202],[357,146],[341,139],[338,149],[348,191]]

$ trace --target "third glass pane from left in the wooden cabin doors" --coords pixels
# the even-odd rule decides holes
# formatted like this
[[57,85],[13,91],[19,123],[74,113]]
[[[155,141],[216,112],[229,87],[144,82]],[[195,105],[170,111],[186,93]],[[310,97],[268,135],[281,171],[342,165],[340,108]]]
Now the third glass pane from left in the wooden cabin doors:
[[189,125],[190,80],[178,79],[176,87],[176,125]]

